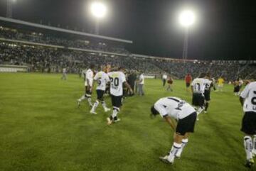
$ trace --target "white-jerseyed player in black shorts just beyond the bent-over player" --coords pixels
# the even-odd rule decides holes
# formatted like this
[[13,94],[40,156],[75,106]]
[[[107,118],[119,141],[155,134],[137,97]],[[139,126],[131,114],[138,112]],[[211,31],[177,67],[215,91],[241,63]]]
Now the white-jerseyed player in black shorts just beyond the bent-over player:
[[193,106],[198,107],[198,110],[196,111],[197,114],[201,114],[201,112],[204,110],[204,92],[205,92],[205,82],[206,82],[206,73],[201,73],[201,75],[194,79],[191,84],[191,90],[193,93],[192,96],[192,104]]

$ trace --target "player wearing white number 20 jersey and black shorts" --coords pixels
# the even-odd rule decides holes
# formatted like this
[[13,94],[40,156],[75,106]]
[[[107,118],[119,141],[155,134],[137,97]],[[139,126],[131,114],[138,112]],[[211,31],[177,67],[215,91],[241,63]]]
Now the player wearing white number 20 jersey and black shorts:
[[120,119],[117,118],[117,114],[122,106],[123,84],[130,92],[133,93],[133,91],[125,79],[124,68],[120,67],[118,71],[109,72],[108,75],[110,77],[110,95],[113,106],[112,115],[107,118],[107,124],[110,125],[113,122],[120,121]]

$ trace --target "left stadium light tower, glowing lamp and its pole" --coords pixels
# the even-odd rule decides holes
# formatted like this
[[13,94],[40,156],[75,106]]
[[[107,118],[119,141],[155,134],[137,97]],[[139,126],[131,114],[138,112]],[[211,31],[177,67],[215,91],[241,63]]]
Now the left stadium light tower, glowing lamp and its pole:
[[96,18],[95,33],[98,35],[100,33],[100,20],[106,16],[107,6],[100,1],[94,1],[90,6],[90,11],[92,16]]

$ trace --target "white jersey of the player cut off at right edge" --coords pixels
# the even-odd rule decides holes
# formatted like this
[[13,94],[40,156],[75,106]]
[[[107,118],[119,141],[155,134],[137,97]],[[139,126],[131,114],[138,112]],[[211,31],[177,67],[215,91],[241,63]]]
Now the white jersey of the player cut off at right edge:
[[242,99],[245,99],[243,111],[256,112],[256,82],[251,82],[250,84],[247,84],[240,96],[242,97]]

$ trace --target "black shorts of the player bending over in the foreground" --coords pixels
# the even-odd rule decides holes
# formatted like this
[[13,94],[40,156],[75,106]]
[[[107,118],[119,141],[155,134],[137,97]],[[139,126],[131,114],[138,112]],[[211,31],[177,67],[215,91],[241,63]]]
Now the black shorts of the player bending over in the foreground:
[[176,133],[184,136],[186,133],[193,133],[196,125],[196,112],[186,116],[186,118],[178,119]]

